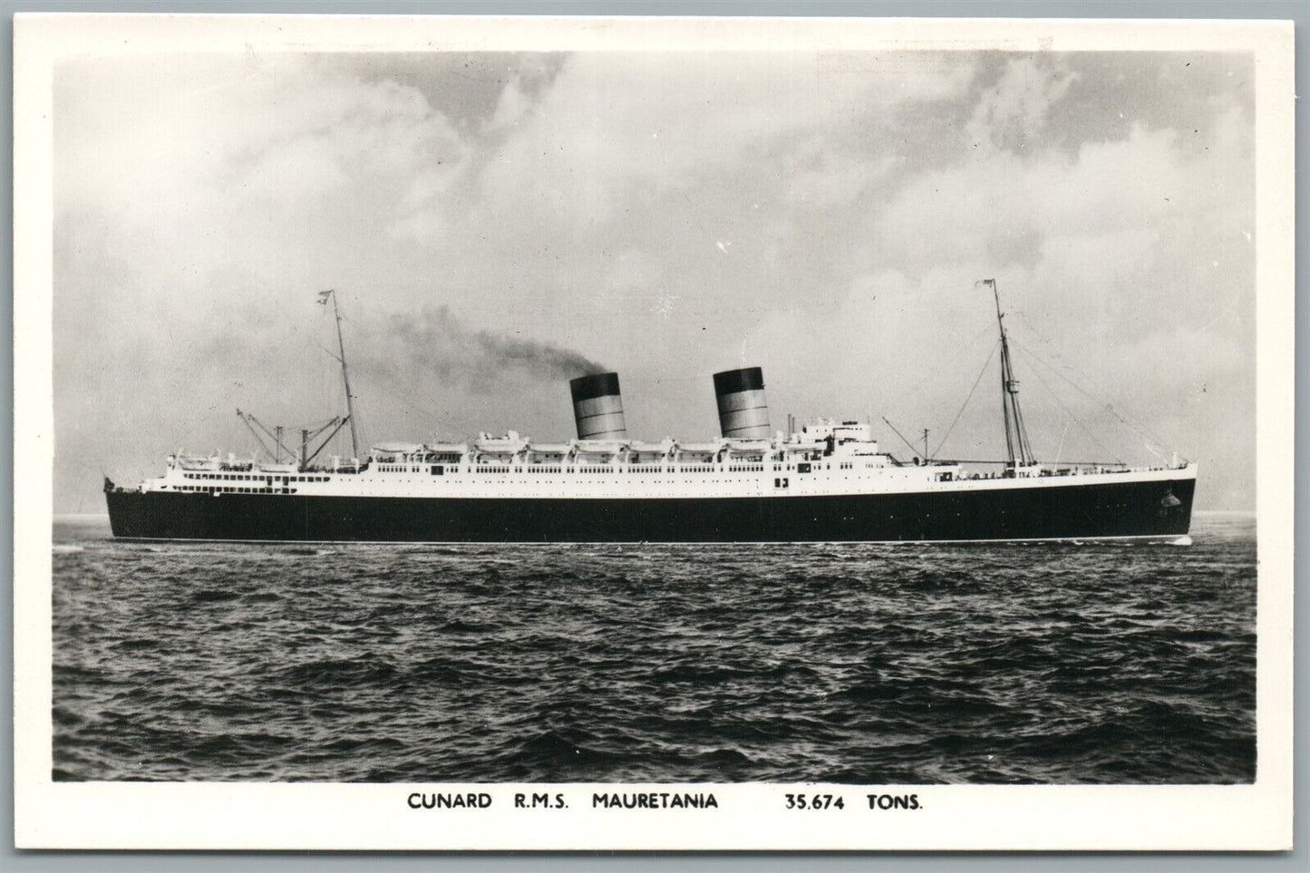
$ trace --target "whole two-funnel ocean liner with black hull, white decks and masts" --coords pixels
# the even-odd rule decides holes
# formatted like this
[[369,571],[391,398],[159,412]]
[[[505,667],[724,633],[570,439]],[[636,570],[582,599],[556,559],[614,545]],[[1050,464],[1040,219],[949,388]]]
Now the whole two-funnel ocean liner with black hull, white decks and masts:
[[[714,374],[714,440],[630,439],[618,376],[605,372],[570,383],[578,438],[569,442],[511,431],[364,452],[341,312],[335,294],[325,291],[320,303],[335,312],[346,414],[301,430],[297,448],[284,446],[283,429],[238,410],[257,438],[263,431],[271,440],[271,461],[176,454],[162,476],[136,488],[106,478],[110,524],[117,537],[145,540],[1188,543],[1193,463],[1036,460],[1000,294],[994,281],[981,284],[996,295],[1007,447],[990,473],[930,459],[926,450],[900,459],[862,421],[817,419],[773,433],[757,367]],[[351,457],[321,460],[347,426]]]

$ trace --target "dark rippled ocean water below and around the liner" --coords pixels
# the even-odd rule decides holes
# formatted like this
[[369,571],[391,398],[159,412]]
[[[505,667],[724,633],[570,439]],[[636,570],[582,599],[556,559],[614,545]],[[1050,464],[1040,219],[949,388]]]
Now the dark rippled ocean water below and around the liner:
[[1255,522],[1178,545],[54,530],[54,777],[1248,783]]

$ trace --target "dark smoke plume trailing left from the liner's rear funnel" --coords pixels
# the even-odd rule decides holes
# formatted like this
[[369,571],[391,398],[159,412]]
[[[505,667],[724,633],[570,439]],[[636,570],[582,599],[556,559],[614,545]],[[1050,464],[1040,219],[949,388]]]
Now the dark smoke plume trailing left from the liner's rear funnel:
[[481,389],[508,379],[563,381],[605,372],[584,355],[536,340],[472,330],[448,307],[392,315],[359,325],[364,371],[409,379],[441,379]]

